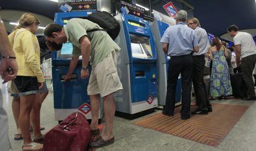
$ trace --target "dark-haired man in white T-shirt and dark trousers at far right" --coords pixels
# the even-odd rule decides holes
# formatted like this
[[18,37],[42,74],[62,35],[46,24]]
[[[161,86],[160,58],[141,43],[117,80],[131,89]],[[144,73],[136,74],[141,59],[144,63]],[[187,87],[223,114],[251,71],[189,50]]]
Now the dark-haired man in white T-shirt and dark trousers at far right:
[[234,37],[236,64],[237,67],[241,64],[242,76],[247,86],[247,97],[244,100],[255,100],[254,80],[252,79],[252,71],[256,63],[254,39],[249,33],[239,31],[236,25],[229,26],[228,33]]

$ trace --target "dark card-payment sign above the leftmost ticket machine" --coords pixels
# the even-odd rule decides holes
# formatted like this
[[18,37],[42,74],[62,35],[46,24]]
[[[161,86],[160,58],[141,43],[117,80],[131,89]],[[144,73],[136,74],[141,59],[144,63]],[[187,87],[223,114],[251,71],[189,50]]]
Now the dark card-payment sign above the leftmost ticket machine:
[[59,0],[58,5],[59,5],[59,12],[97,10],[96,0]]

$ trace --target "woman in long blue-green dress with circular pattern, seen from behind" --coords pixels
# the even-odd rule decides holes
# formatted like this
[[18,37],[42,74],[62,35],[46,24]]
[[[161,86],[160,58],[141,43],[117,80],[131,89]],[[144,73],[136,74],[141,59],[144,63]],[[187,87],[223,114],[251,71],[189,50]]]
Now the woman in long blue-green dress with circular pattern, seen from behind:
[[211,68],[211,97],[226,97],[232,95],[232,87],[226,57],[228,52],[221,44],[220,39],[213,39],[213,46],[208,51],[209,58],[213,61]]

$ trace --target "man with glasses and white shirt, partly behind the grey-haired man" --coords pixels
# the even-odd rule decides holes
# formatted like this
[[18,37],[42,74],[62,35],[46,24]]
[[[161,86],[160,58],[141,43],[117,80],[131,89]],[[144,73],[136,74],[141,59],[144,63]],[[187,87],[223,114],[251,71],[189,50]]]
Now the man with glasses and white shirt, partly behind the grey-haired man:
[[189,28],[195,31],[197,35],[199,51],[193,53],[193,86],[195,90],[195,98],[197,100],[197,110],[192,114],[205,115],[212,112],[207,86],[203,83],[203,69],[205,68],[205,54],[208,52],[208,35],[201,28],[197,18],[187,20]]

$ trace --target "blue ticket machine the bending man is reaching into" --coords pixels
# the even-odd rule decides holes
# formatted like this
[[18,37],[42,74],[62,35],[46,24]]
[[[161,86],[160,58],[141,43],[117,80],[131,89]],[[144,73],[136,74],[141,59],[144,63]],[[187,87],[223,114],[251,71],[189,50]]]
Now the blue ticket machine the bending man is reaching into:
[[[91,13],[92,12],[60,12],[55,14],[54,22],[65,25],[70,18],[86,17]],[[72,73],[70,81],[64,82],[64,77],[69,70],[72,50],[72,43],[65,43],[61,51],[53,52],[53,99],[55,120],[57,121],[64,120],[73,112],[81,112],[88,120],[92,119],[90,99],[87,95],[87,85],[90,77],[85,80],[82,80],[80,77],[82,56],[79,57],[79,62]],[[89,70],[91,70],[90,67]],[[99,118],[101,119],[102,116],[103,112],[100,110]]]

